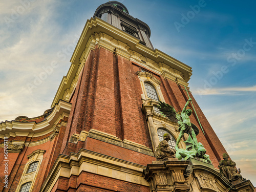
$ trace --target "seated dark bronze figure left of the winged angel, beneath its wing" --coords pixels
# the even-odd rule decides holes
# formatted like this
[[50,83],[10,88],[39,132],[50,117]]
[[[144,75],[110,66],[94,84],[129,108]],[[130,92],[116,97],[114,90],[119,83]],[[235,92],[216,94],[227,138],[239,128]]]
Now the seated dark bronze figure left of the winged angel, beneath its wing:
[[175,157],[175,150],[170,148],[168,141],[170,140],[169,134],[163,134],[163,140],[159,143],[158,147],[156,148],[155,156],[158,161],[165,161],[168,158]]

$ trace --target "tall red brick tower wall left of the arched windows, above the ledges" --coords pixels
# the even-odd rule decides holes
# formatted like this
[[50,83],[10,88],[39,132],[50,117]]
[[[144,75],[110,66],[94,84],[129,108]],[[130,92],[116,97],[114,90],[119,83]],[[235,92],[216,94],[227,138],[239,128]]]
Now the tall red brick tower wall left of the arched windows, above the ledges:
[[84,65],[72,98],[61,152],[68,155],[72,150],[78,151],[68,143],[69,138],[74,133],[90,129],[151,147],[150,134],[141,112],[141,94],[132,63],[96,46]]

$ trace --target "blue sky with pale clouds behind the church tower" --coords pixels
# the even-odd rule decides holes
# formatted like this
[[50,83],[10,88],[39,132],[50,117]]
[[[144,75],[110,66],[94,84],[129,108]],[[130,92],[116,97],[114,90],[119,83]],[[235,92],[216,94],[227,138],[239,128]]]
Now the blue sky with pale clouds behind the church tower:
[[[190,91],[243,177],[256,186],[256,2],[119,2],[150,26],[154,48],[193,68]],[[86,20],[103,3],[0,2],[0,121],[50,108]]]

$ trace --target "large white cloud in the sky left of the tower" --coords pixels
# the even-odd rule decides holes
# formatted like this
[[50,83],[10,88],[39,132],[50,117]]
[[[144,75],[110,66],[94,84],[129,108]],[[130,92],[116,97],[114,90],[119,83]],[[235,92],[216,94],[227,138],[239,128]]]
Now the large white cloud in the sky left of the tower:
[[[20,115],[35,117],[50,108],[59,82],[70,66],[73,50],[68,51],[65,59],[58,57],[57,53],[78,40],[73,31],[62,31],[56,22],[58,16],[54,10],[58,3],[37,1],[34,5],[35,9],[27,13],[29,18],[20,16],[15,21],[15,30],[8,28],[5,23],[0,24],[0,35],[3,37],[0,79],[4,82],[0,84],[0,121],[12,120]],[[14,39],[11,44],[10,38]],[[28,83],[33,84],[36,77],[46,74],[44,68],[51,66],[53,61],[57,62],[58,67],[52,69],[31,92]]]

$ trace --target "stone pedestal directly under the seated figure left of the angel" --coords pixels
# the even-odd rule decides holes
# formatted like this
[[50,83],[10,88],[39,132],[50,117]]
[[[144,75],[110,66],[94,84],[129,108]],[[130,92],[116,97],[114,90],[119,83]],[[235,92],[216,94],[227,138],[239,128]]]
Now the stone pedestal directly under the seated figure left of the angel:
[[168,161],[153,161],[143,170],[144,179],[150,184],[153,192],[180,191],[188,192],[190,185],[184,178],[189,161],[170,158]]

